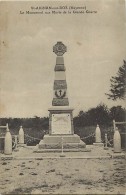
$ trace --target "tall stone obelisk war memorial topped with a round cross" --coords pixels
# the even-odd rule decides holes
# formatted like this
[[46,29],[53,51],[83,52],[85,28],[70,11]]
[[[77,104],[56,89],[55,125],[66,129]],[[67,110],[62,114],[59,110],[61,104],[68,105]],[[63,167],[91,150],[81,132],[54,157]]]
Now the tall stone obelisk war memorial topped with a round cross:
[[69,107],[67,82],[63,54],[67,47],[62,42],[57,42],[53,47],[56,54],[55,80],[53,85],[52,107],[49,111],[49,134],[44,135],[38,144],[40,151],[61,150],[63,142],[64,151],[86,150],[86,144],[74,134],[73,108]]

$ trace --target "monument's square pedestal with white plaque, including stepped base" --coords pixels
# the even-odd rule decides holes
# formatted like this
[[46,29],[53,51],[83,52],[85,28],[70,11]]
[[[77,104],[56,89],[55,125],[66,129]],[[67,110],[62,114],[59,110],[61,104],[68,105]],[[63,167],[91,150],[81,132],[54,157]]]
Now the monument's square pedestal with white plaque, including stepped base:
[[49,134],[38,144],[38,151],[86,151],[86,144],[74,134],[72,108],[49,109]]

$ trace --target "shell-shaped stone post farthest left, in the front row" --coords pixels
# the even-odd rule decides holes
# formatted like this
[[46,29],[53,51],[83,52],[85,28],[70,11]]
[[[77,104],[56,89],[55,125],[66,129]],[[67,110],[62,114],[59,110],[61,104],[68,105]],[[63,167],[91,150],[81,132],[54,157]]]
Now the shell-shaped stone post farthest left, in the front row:
[[6,134],[5,134],[5,140],[4,140],[4,154],[12,154],[12,136],[8,128],[8,124]]

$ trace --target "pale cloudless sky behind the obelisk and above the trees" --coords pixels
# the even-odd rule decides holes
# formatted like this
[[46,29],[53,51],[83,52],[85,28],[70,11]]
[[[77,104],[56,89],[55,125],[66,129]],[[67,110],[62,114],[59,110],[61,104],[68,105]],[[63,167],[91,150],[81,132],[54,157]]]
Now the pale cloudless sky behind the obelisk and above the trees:
[[[0,117],[48,116],[56,55],[62,41],[74,116],[100,103],[108,107],[110,78],[126,60],[125,1],[0,2]],[[85,7],[97,13],[25,14],[32,7]],[[84,9],[81,9],[84,10]],[[24,12],[24,14],[20,14]],[[36,11],[36,10],[34,10]],[[62,11],[62,10],[61,10]],[[84,10],[85,11],[85,10]]]

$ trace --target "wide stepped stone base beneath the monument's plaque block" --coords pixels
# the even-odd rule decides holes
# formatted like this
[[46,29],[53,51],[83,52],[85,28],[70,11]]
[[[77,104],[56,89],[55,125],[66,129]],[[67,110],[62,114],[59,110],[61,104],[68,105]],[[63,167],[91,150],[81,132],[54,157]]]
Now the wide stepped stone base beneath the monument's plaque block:
[[[63,142],[62,142],[63,140]],[[36,152],[61,152],[63,151],[89,151],[86,144],[76,134],[74,135],[45,135],[43,140],[38,144]]]

